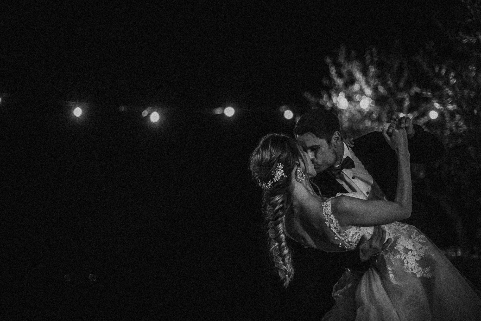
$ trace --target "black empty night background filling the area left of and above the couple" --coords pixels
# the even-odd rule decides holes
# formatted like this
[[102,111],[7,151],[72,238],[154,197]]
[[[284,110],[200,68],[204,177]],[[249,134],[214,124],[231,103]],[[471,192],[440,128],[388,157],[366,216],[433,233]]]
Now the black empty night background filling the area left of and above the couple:
[[[341,44],[362,55],[398,40],[414,54],[445,40],[430,17],[452,21],[456,7],[175,3],[2,8],[8,320],[322,318],[332,284],[319,267],[342,270],[300,253],[282,288],[249,154],[264,134],[292,133],[278,107],[305,110]],[[76,119],[68,101],[89,105]],[[231,118],[207,112],[228,105]],[[140,116],[149,106],[159,123]],[[427,234],[456,245],[438,232]]]

